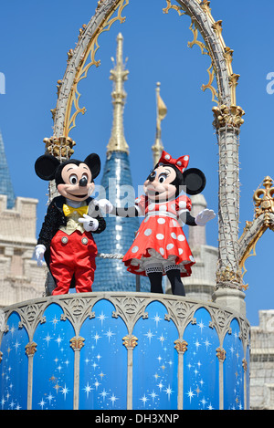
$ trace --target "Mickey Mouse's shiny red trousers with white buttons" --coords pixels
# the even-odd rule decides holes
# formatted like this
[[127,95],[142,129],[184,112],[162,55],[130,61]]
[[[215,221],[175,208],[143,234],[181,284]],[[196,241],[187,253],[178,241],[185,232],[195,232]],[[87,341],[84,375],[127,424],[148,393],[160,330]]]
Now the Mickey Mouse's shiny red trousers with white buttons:
[[50,245],[49,268],[57,283],[52,294],[67,294],[73,275],[77,293],[92,291],[96,256],[97,246],[90,232],[76,230],[67,235],[59,230]]

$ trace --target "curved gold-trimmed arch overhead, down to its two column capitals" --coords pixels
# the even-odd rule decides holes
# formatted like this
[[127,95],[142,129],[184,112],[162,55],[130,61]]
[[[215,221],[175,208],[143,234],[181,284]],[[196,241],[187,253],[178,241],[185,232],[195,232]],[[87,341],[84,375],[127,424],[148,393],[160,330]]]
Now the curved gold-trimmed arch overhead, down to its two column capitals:
[[[100,0],[95,16],[89,24],[79,29],[79,40],[75,49],[68,51],[68,66],[62,80],[58,80],[58,102],[56,109],[51,110],[54,120],[54,135],[45,139],[46,150],[61,158],[69,158],[73,153],[74,141],[69,138],[69,132],[76,126],[76,118],[79,113],[84,114],[85,107],[79,106],[80,93],[79,81],[86,78],[91,66],[99,67],[96,53],[100,47],[99,37],[109,31],[111,26],[119,21],[123,23],[125,17],[121,16],[130,0]],[[239,75],[232,70],[233,50],[227,47],[222,37],[222,21],[215,21],[211,15],[210,2],[208,0],[176,0],[178,5],[172,5],[171,0],[166,0],[163,13],[167,14],[174,9],[179,16],[191,17],[190,29],[194,35],[188,46],[197,45],[204,55],[211,58],[211,65],[207,68],[209,76],[207,84],[202,89],[212,92],[212,100],[217,106],[213,111],[216,121],[226,120],[226,114],[232,117],[234,125],[239,127],[244,120],[244,111],[237,107],[236,88]],[[203,19],[199,19],[200,17]],[[204,38],[204,42],[198,40],[198,33]],[[213,86],[216,79],[217,89]],[[225,111],[225,112],[224,112]]]

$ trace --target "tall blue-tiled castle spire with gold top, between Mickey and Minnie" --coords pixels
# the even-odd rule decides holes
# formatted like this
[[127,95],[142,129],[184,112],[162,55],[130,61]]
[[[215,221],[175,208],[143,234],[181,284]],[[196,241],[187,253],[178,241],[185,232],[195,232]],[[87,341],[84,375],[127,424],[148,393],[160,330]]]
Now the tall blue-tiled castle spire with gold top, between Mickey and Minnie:
[[[123,110],[126,92],[123,83],[127,80],[129,71],[125,69],[122,59],[121,33],[117,37],[116,64],[113,61],[111,80],[113,81],[112,105],[113,124],[111,139],[107,146],[107,159],[104,166],[101,186],[105,194],[100,197],[107,198],[115,206],[121,206],[126,198],[127,205],[134,204],[135,194],[132,187],[132,173],[129,159],[129,146],[125,141],[123,130]],[[128,192],[129,191],[129,192]],[[124,255],[139,229],[139,219],[106,216],[107,228],[103,234],[94,235],[99,253]],[[121,259],[96,259],[95,280],[93,291],[134,291],[136,277],[126,270]],[[147,278],[141,278],[142,291],[148,291]]]

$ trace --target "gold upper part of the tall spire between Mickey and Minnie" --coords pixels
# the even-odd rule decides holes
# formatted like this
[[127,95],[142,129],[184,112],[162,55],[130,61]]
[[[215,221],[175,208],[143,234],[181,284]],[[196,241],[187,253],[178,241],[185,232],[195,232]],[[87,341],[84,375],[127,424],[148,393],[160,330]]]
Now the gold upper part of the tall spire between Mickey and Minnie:
[[123,82],[128,79],[129,70],[125,69],[122,60],[122,42],[123,37],[119,33],[117,37],[116,64],[113,57],[113,68],[111,69],[111,80],[113,80],[113,91],[111,93],[113,105],[113,123],[111,130],[111,139],[107,146],[107,154],[112,151],[125,151],[129,153],[129,146],[124,138],[123,131],[123,110],[126,99],[126,92],[123,88]]

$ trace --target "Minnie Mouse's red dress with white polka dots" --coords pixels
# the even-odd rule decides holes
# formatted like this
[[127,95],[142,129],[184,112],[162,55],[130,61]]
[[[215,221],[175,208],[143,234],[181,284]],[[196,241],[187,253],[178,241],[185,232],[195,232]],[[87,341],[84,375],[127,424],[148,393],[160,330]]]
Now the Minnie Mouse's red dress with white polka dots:
[[127,270],[146,276],[145,265],[151,257],[160,263],[170,261],[180,267],[181,277],[189,277],[195,259],[185,239],[179,215],[186,210],[191,211],[191,200],[183,195],[163,204],[155,204],[142,195],[135,200],[135,204],[145,218],[131,248],[123,257]]

